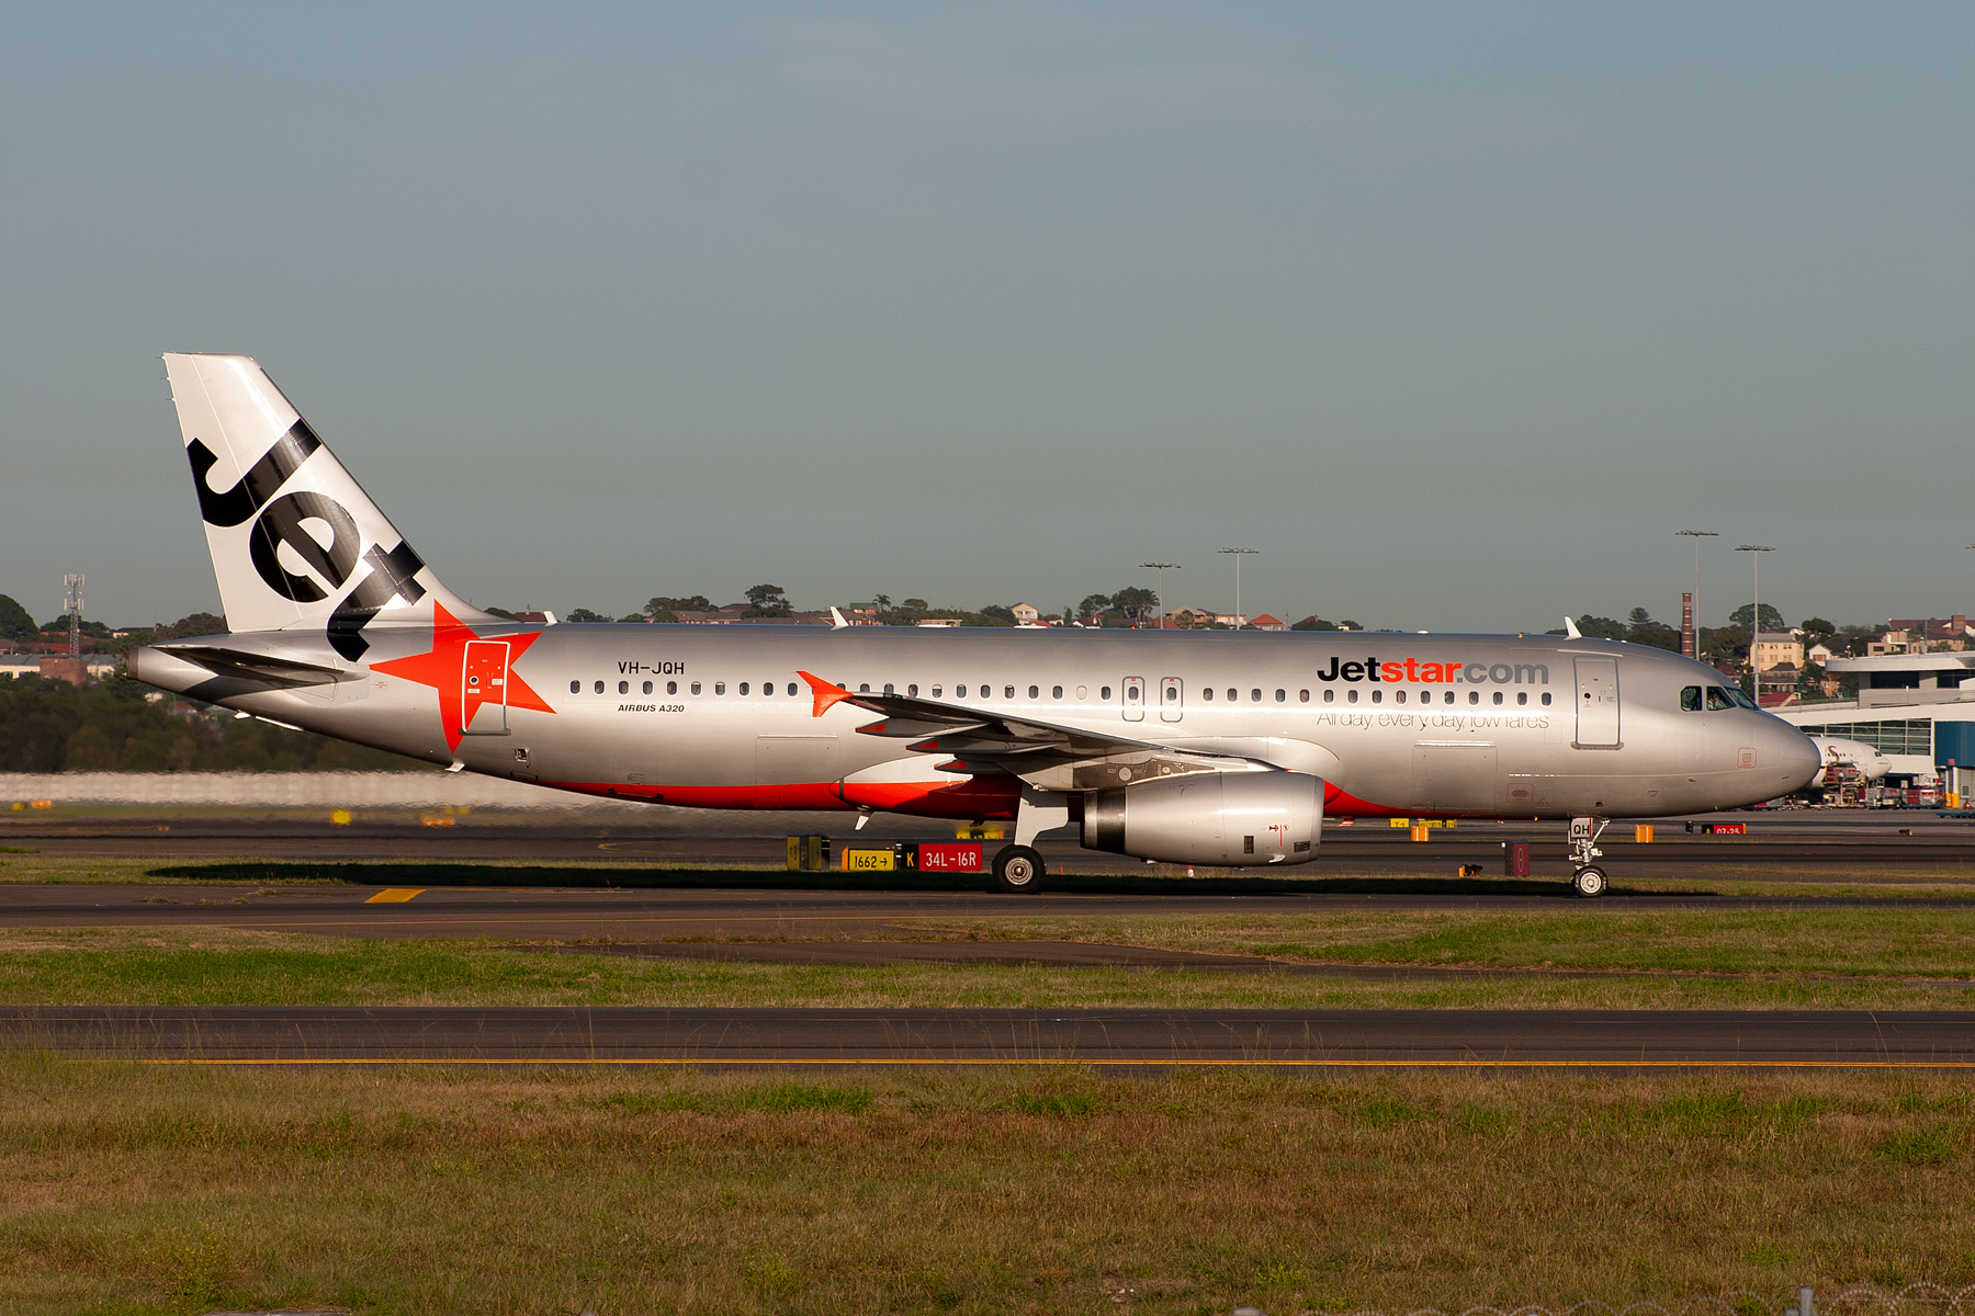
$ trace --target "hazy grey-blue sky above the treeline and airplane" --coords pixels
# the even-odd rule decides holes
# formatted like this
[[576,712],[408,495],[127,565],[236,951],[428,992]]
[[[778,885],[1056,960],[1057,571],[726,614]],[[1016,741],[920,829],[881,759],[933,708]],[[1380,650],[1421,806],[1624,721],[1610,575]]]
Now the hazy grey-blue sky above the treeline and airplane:
[[219,608],[160,351],[450,588],[1975,612],[1965,4],[0,8],[0,594]]

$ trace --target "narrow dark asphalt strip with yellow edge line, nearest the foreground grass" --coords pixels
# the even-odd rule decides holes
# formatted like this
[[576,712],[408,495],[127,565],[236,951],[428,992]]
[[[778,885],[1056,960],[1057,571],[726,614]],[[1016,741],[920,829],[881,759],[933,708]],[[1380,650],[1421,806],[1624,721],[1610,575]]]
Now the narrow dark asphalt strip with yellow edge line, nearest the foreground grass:
[[280,1065],[1975,1067],[1975,1012],[4,1006],[0,1048]]

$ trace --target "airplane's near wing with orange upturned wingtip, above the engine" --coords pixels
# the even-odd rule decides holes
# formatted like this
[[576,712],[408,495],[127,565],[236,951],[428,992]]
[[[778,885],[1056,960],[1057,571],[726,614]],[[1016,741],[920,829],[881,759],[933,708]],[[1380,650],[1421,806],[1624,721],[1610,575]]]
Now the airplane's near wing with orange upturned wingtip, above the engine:
[[822,677],[798,673],[816,696],[816,716],[835,704],[879,714],[861,736],[910,740],[908,750],[944,754],[940,771],[1007,773],[1037,789],[1094,791],[1146,777],[1201,771],[1274,771],[1236,754],[1177,750],[1155,740],[1112,736],[1082,726],[1059,726],[991,708],[968,708],[908,695],[845,691]]

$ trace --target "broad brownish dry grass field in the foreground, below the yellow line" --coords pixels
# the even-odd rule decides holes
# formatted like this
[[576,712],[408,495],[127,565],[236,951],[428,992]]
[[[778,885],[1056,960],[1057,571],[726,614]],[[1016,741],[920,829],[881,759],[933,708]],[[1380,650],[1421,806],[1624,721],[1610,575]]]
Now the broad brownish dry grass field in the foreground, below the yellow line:
[[1963,1081],[0,1060],[0,1310],[1270,1312],[1975,1277]]

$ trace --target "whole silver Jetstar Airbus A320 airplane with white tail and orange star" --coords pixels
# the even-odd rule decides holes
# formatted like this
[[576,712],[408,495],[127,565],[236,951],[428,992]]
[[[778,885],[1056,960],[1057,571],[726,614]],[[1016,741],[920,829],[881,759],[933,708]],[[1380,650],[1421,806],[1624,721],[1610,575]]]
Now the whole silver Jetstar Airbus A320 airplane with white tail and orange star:
[[1304,864],[1329,817],[1623,817],[1787,795],[1823,756],[1712,667],[1618,641],[1367,631],[527,625],[448,590],[251,359],[164,357],[229,633],[138,681],[450,771],[697,809],[1013,823],[1171,864]]

